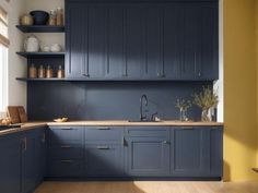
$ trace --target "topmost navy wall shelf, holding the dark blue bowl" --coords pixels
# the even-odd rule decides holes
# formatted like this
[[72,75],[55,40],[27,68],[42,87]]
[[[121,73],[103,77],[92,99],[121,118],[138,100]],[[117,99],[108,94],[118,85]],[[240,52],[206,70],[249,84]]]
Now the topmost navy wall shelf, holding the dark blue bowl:
[[49,26],[49,25],[16,25],[23,33],[63,33],[64,26]]

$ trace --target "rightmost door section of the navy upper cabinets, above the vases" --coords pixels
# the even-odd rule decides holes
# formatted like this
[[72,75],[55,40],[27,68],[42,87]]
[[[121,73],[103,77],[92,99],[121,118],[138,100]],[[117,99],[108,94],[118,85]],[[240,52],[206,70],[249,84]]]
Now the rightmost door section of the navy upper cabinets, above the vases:
[[183,80],[216,80],[219,77],[218,4],[184,5]]

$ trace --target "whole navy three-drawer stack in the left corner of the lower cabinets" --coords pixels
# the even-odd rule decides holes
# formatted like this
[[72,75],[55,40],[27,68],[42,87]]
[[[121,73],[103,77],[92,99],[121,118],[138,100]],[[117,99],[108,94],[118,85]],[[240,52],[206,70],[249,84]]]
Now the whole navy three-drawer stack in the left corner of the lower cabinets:
[[83,176],[83,126],[50,126],[48,130],[48,178]]

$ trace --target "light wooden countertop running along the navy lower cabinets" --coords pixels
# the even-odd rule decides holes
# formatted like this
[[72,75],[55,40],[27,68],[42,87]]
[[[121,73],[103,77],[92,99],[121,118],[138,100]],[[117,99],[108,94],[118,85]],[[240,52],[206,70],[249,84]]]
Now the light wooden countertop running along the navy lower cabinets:
[[160,121],[160,122],[129,122],[127,120],[101,120],[101,121],[68,121],[68,122],[27,122],[22,123],[21,128],[0,131],[0,136],[26,130],[33,130],[40,126],[222,126],[221,122],[194,122],[194,121]]

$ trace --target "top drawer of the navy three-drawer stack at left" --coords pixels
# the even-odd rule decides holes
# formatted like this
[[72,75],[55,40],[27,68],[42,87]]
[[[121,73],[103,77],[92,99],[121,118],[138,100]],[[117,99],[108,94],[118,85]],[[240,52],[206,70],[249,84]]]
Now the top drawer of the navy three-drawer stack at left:
[[52,126],[49,130],[50,143],[63,143],[66,141],[83,141],[83,128],[81,126]]

